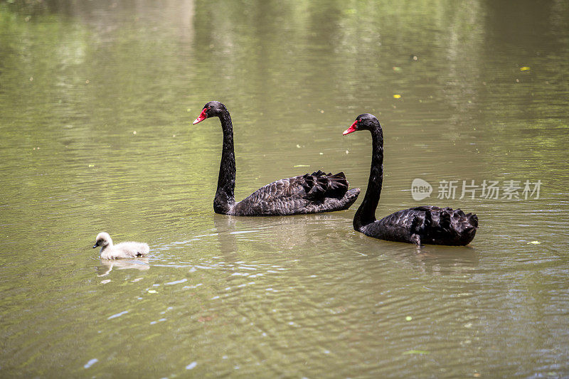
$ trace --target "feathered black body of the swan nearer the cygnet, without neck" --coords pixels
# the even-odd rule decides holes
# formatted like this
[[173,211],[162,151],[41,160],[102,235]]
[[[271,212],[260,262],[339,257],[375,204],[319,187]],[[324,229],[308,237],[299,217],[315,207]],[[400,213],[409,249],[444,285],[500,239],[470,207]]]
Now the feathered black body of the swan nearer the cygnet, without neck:
[[312,174],[280,179],[262,186],[235,204],[234,215],[294,215],[343,210],[358,198],[359,188],[348,191],[343,172]]

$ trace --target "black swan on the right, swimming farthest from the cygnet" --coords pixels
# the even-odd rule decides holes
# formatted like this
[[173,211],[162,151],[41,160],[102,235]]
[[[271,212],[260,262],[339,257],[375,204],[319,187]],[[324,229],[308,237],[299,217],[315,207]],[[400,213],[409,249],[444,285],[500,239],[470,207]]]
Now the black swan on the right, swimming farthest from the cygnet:
[[376,208],[383,183],[383,131],[373,114],[360,114],[344,135],[369,130],[373,141],[371,172],[366,196],[353,217],[353,228],[370,237],[416,245],[468,245],[478,228],[478,217],[460,209],[433,205],[399,210],[381,220]]

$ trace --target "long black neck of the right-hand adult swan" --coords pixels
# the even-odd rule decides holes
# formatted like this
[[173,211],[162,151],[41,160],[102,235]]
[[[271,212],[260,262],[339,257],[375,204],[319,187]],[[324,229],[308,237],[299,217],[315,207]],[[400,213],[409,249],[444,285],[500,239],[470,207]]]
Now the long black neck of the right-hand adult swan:
[[361,230],[363,226],[376,221],[376,208],[378,208],[383,183],[383,132],[381,126],[371,130],[371,139],[373,141],[371,171],[366,196],[353,217],[353,228],[356,230]]

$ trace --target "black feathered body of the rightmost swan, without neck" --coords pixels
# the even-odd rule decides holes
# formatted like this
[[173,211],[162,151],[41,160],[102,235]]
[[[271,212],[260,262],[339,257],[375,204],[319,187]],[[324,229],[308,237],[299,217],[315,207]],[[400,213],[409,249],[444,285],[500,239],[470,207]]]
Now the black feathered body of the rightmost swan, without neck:
[[399,210],[364,228],[363,233],[382,240],[468,245],[476,234],[478,217],[460,209],[424,205]]

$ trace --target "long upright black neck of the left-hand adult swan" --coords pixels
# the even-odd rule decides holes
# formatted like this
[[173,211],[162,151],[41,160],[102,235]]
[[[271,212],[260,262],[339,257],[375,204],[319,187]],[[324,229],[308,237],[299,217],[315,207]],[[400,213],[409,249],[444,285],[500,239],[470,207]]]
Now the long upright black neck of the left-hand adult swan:
[[233,151],[233,124],[225,110],[219,117],[223,129],[223,150],[219,165],[218,190],[213,200],[216,213],[228,213],[235,204],[235,152]]

